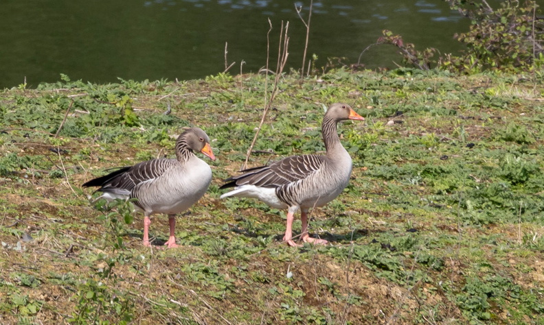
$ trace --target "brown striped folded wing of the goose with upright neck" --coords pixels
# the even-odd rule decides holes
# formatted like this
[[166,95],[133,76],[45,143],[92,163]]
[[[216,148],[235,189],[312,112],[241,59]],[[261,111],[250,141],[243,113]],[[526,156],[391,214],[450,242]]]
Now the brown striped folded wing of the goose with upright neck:
[[261,187],[280,187],[304,180],[323,165],[325,157],[318,155],[291,156],[272,165],[246,169],[242,175],[226,180],[221,189],[245,184]]

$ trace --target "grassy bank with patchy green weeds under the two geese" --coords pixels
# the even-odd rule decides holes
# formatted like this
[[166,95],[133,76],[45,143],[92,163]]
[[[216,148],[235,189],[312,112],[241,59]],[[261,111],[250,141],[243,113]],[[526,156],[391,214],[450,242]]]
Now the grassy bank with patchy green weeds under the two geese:
[[[304,248],[280,243],[286,211],[218,198],[245,160],[264,85],[63,77],[1,91],[0,322],[544,324],[542,75],[286,75],[250,167],[324,151],[323,106],[366,118],[340,126],[350,184],[311,214],[310,232],[332,245]],[[80,184],[172,157],[188,125],[212,139],[214,180],[179,216],[182,248],[144,248],[143,217],[124,224]],[[150,234],[168,239],[165,216]]]

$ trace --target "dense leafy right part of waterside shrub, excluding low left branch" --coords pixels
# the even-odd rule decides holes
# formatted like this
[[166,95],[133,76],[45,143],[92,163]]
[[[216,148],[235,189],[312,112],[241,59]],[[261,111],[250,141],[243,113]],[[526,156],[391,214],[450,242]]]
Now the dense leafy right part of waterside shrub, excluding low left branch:
[[544,21],[534,16],[536,1],[500,1],[491,8],[486,1],[447,0],[471,21],[470,30],[455,38],[466,53],[445,65],[460,71],[479,69],[529,69],[541,65],[544,55]]

